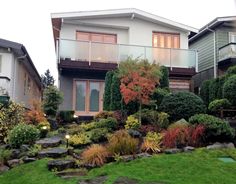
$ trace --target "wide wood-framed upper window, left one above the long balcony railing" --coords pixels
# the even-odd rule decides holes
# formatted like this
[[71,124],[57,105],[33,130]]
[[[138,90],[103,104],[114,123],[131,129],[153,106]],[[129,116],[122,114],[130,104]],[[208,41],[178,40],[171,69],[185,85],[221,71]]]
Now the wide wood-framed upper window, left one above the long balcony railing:
[[106,33],[90,33],[90,32],[76,32],[76,39],[79,41],[91,41],[100,43],[113,43],[117,42],[117,37],[114,34]]

